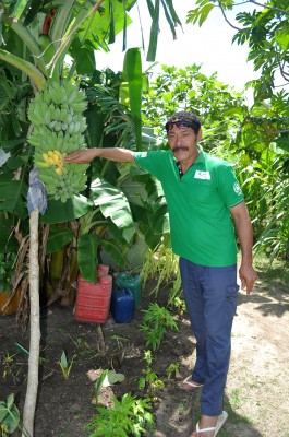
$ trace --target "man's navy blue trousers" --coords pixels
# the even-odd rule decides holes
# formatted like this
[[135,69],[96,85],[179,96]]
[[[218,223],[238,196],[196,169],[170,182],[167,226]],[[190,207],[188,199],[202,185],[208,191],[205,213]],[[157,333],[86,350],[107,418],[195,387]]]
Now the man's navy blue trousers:
[[222,398],[231,353],[231,328],[237,309],[237,265],[204,267],[180,258],[186,309],[196,339],[192,373],[203,383],[201,412],[216,416]]

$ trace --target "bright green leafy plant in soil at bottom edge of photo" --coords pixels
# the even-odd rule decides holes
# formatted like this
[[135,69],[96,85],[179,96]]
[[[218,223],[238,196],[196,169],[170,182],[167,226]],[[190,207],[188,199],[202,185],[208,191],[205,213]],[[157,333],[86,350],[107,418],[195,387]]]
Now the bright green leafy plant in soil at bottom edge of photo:
[[98,414],[86,426],[86,430],[92,433],[89,437],[140,437],[147,427],[154,433],[150,399],[139,399],[125,393],[120,401],[113,397],[112,402],[111,409],[96,406]]

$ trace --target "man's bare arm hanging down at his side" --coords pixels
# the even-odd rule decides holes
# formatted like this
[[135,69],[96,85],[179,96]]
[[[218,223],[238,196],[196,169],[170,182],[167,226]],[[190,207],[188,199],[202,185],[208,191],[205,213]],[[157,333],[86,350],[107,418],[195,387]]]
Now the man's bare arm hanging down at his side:
[[257,280],[257,273],[252,265],[252,246],[253,229],[245,202],[241,202],[230,208],[237,235],[241,245],[242,260],[239,269],[242,290],[250,294],[253,290],[254,282]]

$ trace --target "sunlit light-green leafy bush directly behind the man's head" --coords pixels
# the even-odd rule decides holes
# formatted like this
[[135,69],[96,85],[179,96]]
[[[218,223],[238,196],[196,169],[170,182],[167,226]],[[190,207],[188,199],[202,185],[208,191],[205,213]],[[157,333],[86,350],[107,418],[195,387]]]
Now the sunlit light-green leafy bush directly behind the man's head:
[[177,110],[192,110],[203,122],[202,144],[212,150],[220,143],[228,147],[231,135],[240,128],[240,115],[224,117],[224,113],[242,105],[242,95],[219,82],[216,73],[207,78],[196,64],[181,69],[162,66],[161,73],[144,95],[143,114],[145,122],[153,126],[159,135],[159,144],[162,142],[165,145],[164,126],[168,117]]

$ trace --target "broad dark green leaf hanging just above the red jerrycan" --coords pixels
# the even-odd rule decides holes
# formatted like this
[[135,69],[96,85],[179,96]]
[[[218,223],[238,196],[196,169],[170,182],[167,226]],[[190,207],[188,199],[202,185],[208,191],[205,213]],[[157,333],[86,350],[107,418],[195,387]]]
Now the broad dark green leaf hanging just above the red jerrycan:
[[79,238],[77,261],[82,276],[88,281],[97,282],[97,250],[99,238],[96,234],[85,234]]

